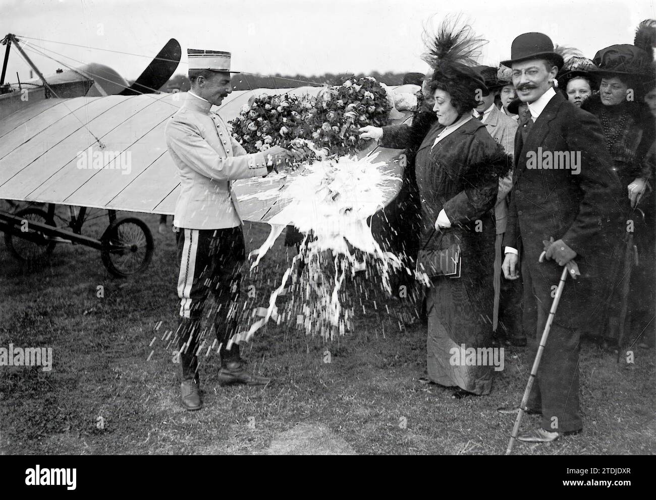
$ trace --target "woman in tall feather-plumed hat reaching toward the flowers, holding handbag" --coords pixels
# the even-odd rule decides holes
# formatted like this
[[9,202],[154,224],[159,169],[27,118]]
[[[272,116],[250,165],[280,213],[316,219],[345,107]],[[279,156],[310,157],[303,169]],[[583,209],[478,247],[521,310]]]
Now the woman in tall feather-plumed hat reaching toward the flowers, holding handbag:
[[[476,96],[487,90],[473,69],[481,42],[470,36],[468,26],[456,30],[447,23],[430,41],[424,58],[434,68],[429,88],[438,122],[423,131],[415,159],[419,248],[445,250],[456,244],[462,256],[460,277],[433,277],[426,290],[428,378],[456,387],[457,398],[488,394],[492,387],[492,360],[470,364],[465,354],[470,347],[478,352],[492,345],[493,207],[499,177],[512,165],[485,125],[472,117],[480,104]],[[412,129],[388,128],[380,141],[405,147],[412,137]]]

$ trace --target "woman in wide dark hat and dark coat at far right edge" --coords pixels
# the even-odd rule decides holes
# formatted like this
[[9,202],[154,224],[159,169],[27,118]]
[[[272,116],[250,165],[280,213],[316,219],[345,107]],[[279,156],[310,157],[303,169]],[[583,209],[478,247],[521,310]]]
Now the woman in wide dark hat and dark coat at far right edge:
[[[636,46],[643,45],[641,39],[647,40],[646,50]],[[649,22],[643,22],[636,34],[636,45],[613,45],[597,52],[594,63],[598,69],[594,73],[601,78],[600,93],[588,98],[581,106],[602,123],[606,144],[625,193],[623,199],[615,201],[623,208],[621,225],[626,229],[627,221],[633,221],[631,243],[638,250],[638,265],[632,267],[627,299],[622,294],[623,284],[628,279],[624,276],[628,233],[623,230],[625,239],[609,241],[608,273],[611,286],[607,287],[603,309],[600,310],[601,328],[594,328],[590,333],[602,337],[611,345],[617,345],[619,340],[623,301],[628,301],[625,330],[630,334],[625,334],[624,340],[628,339],[629,343],[646,328],[654,313],[654,224],[653,211],[648,206],[651,205],[651,193],[647,193],[638,205],[649,214],[650,217],[646,218],[649,223],[642,221],[641,212],[632,210],[636,200],[636,183],[642,182],[643,172],[649,171],[653,157],[648,153],[656,140],[653,115],[643,100],[644,90],[649,90],[646,88],[649,87],[647,82],[653,81],[652,39],[656,39],[656,31]],[[644,183],[641,185],[644,187]]]

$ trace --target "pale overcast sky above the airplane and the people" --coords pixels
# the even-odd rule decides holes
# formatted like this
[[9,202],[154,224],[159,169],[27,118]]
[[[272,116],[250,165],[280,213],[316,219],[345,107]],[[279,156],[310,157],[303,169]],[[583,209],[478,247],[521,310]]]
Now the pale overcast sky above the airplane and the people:
[[[228,50],[233,69],[264,75],[401,73],[428,69],[420,56],[431,16],[436,24],[461,12],[489,41],[480,60],[489,65],[508,58],[514,37],[527,31],[592,58],[600,48],[632,43],[638,23],[656,18],[649,0],[0,0],[0,12],[0,37],[22,35],[28,48],[69,66],[98,62],[126,79],[138,77],[171,37],[182,46],[176,73],[187,71],[186,48]],[[28,55],[45,75],[62,67]],[[6,80],[15,83],[16,71],[29,78],[12,50]]]

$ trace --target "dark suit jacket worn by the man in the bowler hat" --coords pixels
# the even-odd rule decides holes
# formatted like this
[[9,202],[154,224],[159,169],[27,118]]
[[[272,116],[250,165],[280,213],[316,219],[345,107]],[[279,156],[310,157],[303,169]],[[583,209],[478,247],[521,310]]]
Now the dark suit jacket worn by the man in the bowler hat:
[[[598,119],[556,92],[533,123],[526,142],[521,130],[520,125],[504,246],[519,248],[521,240],[525,258],[537,263],[543,240],[554,237],[564,240],[579,256],[592,258],[604,248],[601,233],[617,227],[623,207],[619,179]],[[580,153],[580,173],[527,168],[527,155],[538,153],[539,147],[542,151]]]

